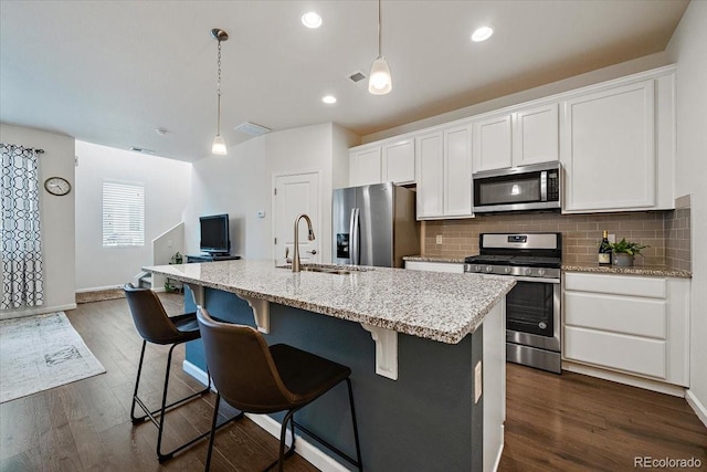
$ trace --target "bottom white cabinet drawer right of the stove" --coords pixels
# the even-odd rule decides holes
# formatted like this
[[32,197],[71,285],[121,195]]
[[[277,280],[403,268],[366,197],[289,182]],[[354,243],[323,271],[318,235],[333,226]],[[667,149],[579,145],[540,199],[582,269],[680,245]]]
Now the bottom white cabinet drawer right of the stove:
[[664,340],[568,326],[564,358],[662,379],[666,376]]

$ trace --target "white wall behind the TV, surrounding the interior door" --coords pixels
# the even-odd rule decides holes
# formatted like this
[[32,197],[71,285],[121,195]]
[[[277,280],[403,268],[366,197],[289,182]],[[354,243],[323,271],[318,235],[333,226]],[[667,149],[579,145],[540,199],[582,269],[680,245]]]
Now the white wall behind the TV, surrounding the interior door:
[[[348,148],[359,137],[330,123],[270,133],[229,148],[225,157],[193,165],[191,199],[184,212],[188,253],[199,253],[201,214],[229,213],[231,253],[247,259],[273,258],[273,176],[319,171],[321,229],[330,234],[331,189],[348,181]],[[265,211],[258,218],[257,211]],[[321,244],[323,261],[331,244]]]

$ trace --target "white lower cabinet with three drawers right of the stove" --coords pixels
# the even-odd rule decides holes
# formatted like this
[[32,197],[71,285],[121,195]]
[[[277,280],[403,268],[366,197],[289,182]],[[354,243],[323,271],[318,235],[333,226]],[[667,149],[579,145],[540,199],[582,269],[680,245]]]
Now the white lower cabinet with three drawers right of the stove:
[[564,274],[566,360],[688,386],[688,323],[689,280]]

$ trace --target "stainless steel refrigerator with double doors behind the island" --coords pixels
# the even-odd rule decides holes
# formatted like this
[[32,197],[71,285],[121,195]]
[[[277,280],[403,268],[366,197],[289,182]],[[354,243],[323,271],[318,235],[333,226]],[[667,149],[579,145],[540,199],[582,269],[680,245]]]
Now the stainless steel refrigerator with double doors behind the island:
[[334,190],[331,259],[335,264],[402,268],[420,253],[415,193],[392,183]]

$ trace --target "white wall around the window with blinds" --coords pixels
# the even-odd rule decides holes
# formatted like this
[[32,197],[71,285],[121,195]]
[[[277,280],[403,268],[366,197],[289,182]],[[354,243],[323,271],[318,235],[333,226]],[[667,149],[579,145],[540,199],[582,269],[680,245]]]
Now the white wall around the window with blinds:
[[[123,286],[152,263],[152,239],[182,221],[191,164],[83,141],[76,141],[76,155],[75,289]],[[104,179],[145,186],[144,247],[103,248]]]

